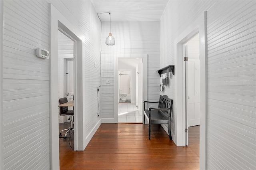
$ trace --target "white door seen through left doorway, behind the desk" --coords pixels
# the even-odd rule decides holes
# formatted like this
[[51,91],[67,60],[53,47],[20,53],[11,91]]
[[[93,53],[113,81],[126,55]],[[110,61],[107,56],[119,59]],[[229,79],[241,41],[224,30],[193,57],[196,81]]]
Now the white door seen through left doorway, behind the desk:
[[[68,101],[73,100],[74,95],[74,60],[66,60],[66,98]],[[73,107],[68,107],[68,110],[73,110]]]

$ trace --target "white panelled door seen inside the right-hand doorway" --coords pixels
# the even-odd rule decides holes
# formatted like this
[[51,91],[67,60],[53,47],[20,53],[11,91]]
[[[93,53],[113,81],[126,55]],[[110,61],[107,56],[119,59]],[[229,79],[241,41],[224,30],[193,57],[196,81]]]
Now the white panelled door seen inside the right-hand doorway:
[[188,127],[200,125],[200,62],[199,59],[190,59],[188,54],[188,94],[187,111]]

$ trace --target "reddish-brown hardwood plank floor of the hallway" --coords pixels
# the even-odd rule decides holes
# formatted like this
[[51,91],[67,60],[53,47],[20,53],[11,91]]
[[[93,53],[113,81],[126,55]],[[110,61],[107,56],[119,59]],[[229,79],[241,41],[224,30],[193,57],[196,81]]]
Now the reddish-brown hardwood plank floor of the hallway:
[[199,126],[189,128],[189,146],[177,147],[160,125],[148,140],[148,125],[102,124],[84,151],[60,138],[60,169],[198,170]]

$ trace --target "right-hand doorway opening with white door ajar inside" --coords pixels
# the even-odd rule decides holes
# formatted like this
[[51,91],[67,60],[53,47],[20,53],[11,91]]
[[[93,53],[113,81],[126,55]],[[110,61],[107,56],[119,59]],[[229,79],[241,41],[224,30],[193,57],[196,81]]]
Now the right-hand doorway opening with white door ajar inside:
[[[186,129],[200,125],[200,41],[196,34],[183,45],[186,89]],[[198,128],[199,134],[199,128]],[[188,132],[186,133],[188,146]]]

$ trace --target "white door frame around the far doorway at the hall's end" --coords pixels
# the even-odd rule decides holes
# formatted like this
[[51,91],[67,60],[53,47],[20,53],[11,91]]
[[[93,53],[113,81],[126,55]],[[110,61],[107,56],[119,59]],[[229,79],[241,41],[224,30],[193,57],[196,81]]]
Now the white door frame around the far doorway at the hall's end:
[[[118,58],[142,58],[143,62],[143,96],[139,104],[148,99],[148,55],[147,54],[115,54],[114,56],[114,123],[118,123]],[[141,73],[140,73],[141,74]]]

